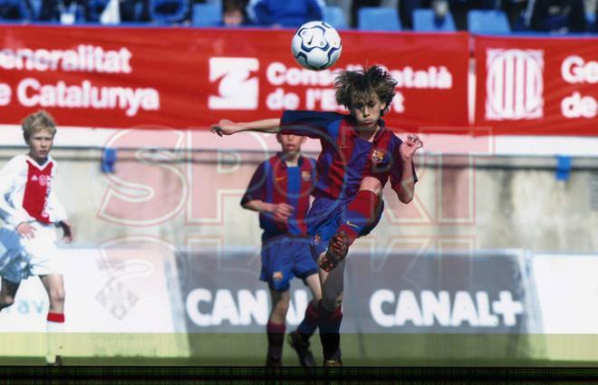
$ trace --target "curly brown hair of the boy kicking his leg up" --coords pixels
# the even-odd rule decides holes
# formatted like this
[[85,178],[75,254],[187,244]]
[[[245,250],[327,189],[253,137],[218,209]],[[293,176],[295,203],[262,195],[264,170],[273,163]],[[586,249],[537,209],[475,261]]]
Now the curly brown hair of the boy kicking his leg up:
[[334,80],[336,102],[351,109],[353,101],[368,99],[371,93],[375,93],[388,108],[396,85],[397,81],[392,79],[391,74],[378,65],[358,71],[342,71]]

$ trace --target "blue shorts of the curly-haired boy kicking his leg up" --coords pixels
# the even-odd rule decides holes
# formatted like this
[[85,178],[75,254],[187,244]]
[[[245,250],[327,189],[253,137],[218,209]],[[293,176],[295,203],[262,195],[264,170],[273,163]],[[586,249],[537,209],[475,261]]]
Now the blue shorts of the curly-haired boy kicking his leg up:
[[[316,197],[312,207],[307,213],[307,233],[309,234],[310,247],[313,260],[317,260],[326,248],[330,238],[336,230],[345,222],[345,210],[349,206],[351,198]],[[378,225],[384,210],[384,201],[381,200],[380,211],[371,225],[365,226],[359,236],[367,236],[371,230]]]

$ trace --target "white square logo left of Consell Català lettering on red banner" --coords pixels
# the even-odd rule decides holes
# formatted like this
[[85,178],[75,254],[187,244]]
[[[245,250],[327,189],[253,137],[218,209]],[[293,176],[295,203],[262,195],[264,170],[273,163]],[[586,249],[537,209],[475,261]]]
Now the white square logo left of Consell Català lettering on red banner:
[[259,69],[256,58],[213,57],[209,60],[209,82],[218,82],[218,94],[209,95],[211,110],[257,110]]

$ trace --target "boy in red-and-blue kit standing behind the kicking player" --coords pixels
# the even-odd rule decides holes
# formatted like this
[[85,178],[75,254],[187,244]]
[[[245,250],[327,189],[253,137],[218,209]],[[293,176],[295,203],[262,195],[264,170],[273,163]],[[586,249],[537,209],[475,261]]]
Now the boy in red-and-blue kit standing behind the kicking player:
[[315,160],[301,155],[305,137],[277,134],[282,151],[256,169],[241,205],[260,213],[262,272],[260,280],[270,288],[272,312],[268,319],[267,366],[281,366],[285,318],[290,303],[290,281],[304,280],[313,295],[304,321],[289,334],[288,342],[302,366],[314,366],[309,338],[318,326],[317,306],[322,298],[318,267],[313,261],[305,216],[315,181]]

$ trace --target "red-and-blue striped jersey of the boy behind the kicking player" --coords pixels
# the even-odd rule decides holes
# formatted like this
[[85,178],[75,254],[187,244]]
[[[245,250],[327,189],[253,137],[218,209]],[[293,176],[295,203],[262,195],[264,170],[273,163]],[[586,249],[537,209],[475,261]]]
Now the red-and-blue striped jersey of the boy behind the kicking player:
[[288,167],[281,156],[282,153],[278,153],[259,165],[241,198],[241,205],[255,199],[266,203],[286,203],[294,207],[286,224],[275,222],[271,214],[260,213],[259,223],[265,238],[307,236],[305,216],[315,181],[315,160],[299,157],[297,166]]

